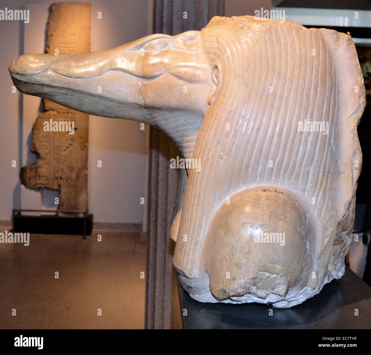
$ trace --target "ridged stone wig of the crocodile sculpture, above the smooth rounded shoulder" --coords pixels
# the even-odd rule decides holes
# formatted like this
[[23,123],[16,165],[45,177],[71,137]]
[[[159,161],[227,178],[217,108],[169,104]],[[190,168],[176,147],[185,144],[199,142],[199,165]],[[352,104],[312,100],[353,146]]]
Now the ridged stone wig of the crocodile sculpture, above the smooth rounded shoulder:
[[[201,36],[210,62],[221,66],[222,84],[195,144],[201,172],[189,175],[174,265],[197,277],[207,229],[226,198],[250,186],[278,185],[301,196],[313,239],[311,270],[329,264],[328,282],[349,246],[361,166],[356,128],[364,85],[351,38],[251,16],[214,17]],[[335,66],[335,56],[342,65]],[[305,119],[328,121],[328,134],[299,132]],[[346,232],[338,236],[337,228]],[[336,260],[334,241],[343,248]]]

